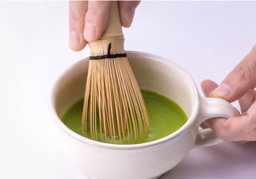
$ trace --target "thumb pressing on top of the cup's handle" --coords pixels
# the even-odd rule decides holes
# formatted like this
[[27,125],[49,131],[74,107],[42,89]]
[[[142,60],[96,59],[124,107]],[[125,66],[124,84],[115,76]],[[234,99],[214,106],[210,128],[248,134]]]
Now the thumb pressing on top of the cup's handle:
[[256,45],[248,55],[226,76],[210,97],[233,102],[256,85]]

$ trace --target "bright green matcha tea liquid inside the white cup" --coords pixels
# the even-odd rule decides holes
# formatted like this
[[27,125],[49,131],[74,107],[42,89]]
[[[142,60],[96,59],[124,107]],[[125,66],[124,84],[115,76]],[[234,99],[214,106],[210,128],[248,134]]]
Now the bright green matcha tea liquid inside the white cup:
[[[138,144],[144,142],[161,139],[175,132],[182,127],[188,120],[185,112],[171,99],[166,98],[156,92],[141,90],[145,106],[149,118],[149,135],[147,139],[138,139],[130,144]],[[62,117],[62,122],[71,130],[82,135],[81,120],[83,111],[84,99],[74,103]],[[100,129],[97,130],[100,139]],[[87,138],[91,139],[90,132],[87,133]],[[111,137],[107,139],[111,143]],[[120,141],[116,140],[117,144]]]

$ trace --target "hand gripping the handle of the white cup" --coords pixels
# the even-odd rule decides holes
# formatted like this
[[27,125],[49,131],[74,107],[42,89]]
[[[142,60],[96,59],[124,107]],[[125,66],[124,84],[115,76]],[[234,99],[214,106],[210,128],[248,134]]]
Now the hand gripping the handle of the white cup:
[[211,80],[203,80],[201,82],[201,89],[206,97],[222,98],[229,102],[238,99],[242,114],[229,119],[207,119],[204,124],[210,127],[220,139],[226,141],[255,141],[255,87],[256,45],[226,76],[220,86]]

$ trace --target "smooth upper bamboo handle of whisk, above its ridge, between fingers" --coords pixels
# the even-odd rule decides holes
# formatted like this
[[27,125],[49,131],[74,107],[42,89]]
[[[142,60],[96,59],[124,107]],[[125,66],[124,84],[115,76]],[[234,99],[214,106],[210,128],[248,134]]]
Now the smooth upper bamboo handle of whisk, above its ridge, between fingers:
[[123,39],[117,0],[111,0],[107,26],[100,39]]

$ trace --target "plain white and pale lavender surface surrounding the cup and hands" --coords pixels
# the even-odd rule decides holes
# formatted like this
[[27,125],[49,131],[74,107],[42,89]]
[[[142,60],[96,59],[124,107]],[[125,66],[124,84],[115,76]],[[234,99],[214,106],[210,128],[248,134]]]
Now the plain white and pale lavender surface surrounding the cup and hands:
[[[126,50],[173,60],[200,88],[220,83],[256,43],[256,1],[143,1],[123,31]],[[87,56],[88,47],[68,48],[67,1],[0,2],[0,179],[87,179],[63,155],[49,112],[56,78]],[[255,178],[256,142],[193,149],[161,177]]]

